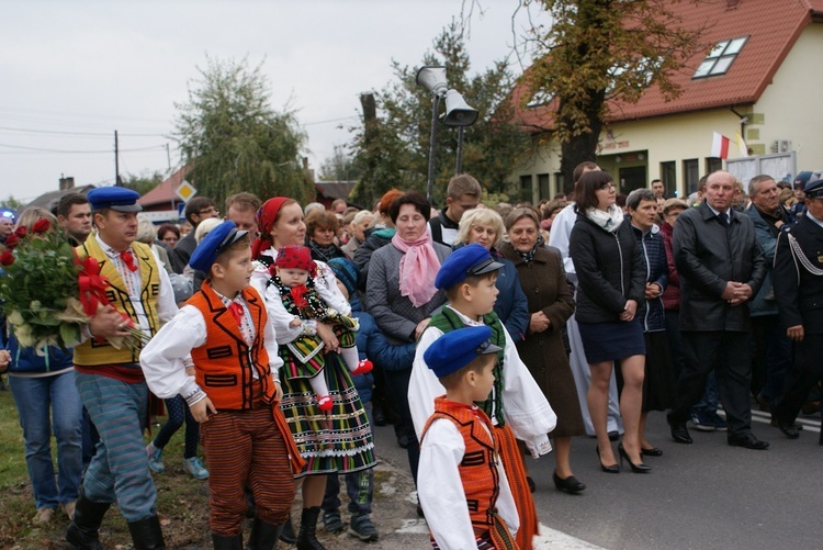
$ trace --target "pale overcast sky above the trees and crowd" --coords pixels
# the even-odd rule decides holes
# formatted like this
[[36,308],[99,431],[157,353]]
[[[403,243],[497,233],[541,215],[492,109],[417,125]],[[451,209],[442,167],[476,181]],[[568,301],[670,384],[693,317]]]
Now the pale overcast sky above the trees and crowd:
[[115,130],[121,176],[176,168],[174,102],[206,54],[263,64],[271,105],[297,111],[319,168],[349,141],[359,93],[391,81],[392,59],[419,64],[464,5],[473,70],[510,56],[516,0],[0,0],[0,200],[60,175],[113,183]]

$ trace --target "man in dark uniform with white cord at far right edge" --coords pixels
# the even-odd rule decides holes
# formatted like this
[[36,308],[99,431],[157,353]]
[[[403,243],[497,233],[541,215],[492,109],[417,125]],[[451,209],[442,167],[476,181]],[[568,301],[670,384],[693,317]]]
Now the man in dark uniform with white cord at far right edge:
[[794,368],[771,416],[790,439],[800,436],[794,419],[809,390],[823,378],[823,180],[807,183],[804,191],[807,213],[780,232],[774,268],[780,323],[794,345]]

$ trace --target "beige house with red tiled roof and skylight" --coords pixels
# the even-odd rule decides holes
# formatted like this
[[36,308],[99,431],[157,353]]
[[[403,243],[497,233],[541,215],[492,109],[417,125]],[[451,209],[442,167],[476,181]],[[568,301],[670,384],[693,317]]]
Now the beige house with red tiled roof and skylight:
[[[740,134],[749,156],[793,153],[791,177],[823,168],[823,0],[683,2],[674,11],[685,26],[706,27],[712,50],[686,63],[677,99],[666,102],[652,87],[638,103],[609,103],[595,160],[619,192],[654,179],[669,197],[696,191],[701,176],[728,164],[711,156],[714,132],[731,139],[728,160],[742,156]],[[523,88],[512,94],[518,102]],[[550,137],[555,101],[518,106],[526,127],[549,136],[510,180],[515,194],[534,203],[563,189],[560,147]]]

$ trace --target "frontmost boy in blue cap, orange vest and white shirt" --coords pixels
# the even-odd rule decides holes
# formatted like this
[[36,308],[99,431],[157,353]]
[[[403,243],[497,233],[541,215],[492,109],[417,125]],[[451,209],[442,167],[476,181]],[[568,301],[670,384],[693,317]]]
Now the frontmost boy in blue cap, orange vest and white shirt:
[[475,405],[495,382],[492,329],[471,326],[446,333],[424,353],[446,386],[420,436],[417,492],[435,548],[516,549],[509,529],[519,519],[491,418]]

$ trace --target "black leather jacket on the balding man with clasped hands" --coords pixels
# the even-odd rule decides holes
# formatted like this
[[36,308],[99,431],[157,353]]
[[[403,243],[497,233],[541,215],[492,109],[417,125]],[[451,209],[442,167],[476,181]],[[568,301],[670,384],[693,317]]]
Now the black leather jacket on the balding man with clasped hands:
[[673,247],[680,276],[680,329],[748,330],[748,302],[732,306],[721,295],[730,281],[747,283],[757,295],[766,277],[752,220],[734,212],[726,227],[703,201],[677,218]]

